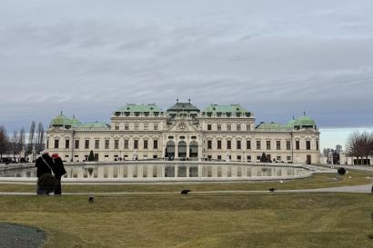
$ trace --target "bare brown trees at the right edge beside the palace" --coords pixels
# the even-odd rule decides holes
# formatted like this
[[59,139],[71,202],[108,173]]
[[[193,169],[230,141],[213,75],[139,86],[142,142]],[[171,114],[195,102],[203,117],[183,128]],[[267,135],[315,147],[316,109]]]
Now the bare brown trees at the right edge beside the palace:
[[346,144],[348,156],[356,157],[357,164],[366,164],[368,157],[373,155],[373,132],[354,132],[349,135]]

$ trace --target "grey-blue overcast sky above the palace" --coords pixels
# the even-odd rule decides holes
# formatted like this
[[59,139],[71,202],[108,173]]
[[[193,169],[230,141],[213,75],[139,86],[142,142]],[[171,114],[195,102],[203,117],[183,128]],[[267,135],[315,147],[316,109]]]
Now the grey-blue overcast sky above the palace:
[[257,122],[306,111],[373,125],[373,1],[5,1],[0,124],[126,103],[239,103]]

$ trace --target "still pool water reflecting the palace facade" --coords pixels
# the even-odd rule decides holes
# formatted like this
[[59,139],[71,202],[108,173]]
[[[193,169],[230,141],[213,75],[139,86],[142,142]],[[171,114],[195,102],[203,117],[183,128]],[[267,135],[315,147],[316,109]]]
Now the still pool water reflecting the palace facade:
[[[309,174],[298,167],[254,166],[238,164],[116,164],[116,165],[67,165],[66,178],[120,179],[120,178],[247,178],[284,177]],[[35,169],[3,174],[8,177],[35,177]]]

